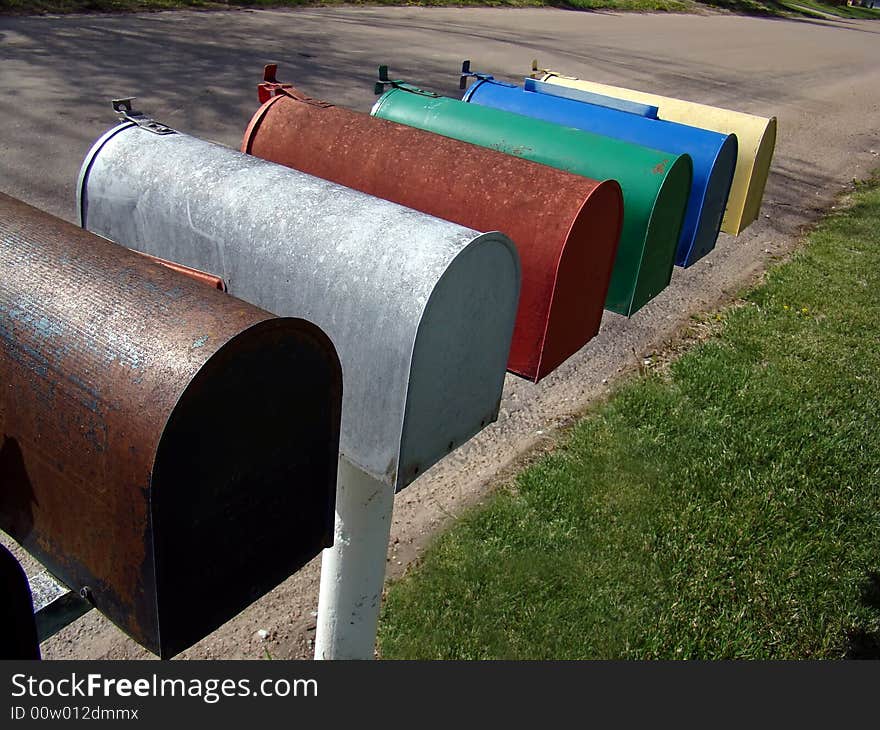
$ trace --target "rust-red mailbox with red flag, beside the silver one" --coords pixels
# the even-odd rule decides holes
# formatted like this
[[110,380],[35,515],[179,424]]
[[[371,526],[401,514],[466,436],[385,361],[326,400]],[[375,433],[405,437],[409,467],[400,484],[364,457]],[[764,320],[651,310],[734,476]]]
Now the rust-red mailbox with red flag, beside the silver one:
[[507,367],[538,381],[598,331],[622,221],[620,186],[310,99],[274,82],[241,149],[514,241],[522,290]]

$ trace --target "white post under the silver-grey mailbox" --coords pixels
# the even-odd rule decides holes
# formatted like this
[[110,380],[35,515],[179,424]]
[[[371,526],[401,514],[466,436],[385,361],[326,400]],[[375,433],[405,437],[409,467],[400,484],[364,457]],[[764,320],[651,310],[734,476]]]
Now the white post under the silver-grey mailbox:
[[321,557],[315,659],[372,659],[394,487],[339,459],[333,547]]

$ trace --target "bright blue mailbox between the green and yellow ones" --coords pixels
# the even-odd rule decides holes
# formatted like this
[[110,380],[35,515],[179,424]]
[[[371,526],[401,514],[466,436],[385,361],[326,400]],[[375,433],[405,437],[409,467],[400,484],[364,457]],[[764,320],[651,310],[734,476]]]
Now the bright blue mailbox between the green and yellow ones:
[[[566,88],[553,84],[543,84],[543,87]],[[735,135],[647,119],[617,109],[540,93],[534,90],[534,86],[532,89],[529,90],[528,83],[520,88],[481,75],[467,90],[462,101],[524,114],[664,152],[690,155],[694,164],[693,184],[675,263],[690,266],[715,247],[736,167]]]

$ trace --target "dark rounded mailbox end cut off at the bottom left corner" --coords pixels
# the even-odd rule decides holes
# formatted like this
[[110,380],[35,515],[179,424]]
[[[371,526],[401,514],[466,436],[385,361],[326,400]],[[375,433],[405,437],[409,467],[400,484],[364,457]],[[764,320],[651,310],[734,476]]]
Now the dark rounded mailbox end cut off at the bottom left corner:
[[15,556],[0,545],[0,660],[39,658],[27,576]]

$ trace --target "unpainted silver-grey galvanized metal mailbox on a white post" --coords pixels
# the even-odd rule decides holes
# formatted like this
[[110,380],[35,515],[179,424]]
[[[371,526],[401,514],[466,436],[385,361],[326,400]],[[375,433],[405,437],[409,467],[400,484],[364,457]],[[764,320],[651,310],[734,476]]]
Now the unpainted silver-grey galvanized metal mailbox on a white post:
[[504,235],[129,122],[80,177],[84,227],[327,332],[340,452],[373,478],[403,488],[496,417],[519,292]]

